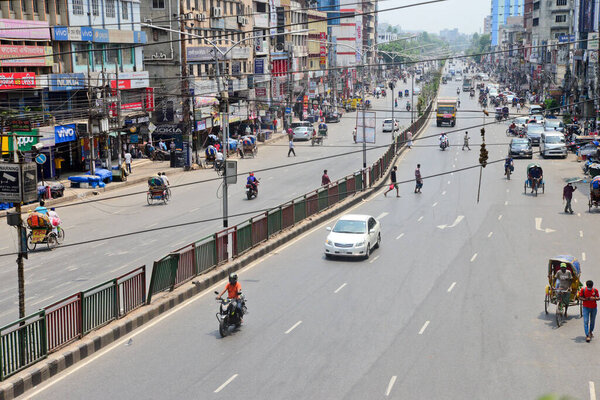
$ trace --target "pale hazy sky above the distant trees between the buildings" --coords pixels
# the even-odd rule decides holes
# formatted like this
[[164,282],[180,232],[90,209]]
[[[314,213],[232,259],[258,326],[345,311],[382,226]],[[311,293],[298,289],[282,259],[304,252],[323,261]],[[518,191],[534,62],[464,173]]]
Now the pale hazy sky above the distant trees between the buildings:
[[[379,0],[379,9],[393,8],[427,0]],[[447,0],[412,8],[379,13],[379,22],[400,25],[406,30],[439,33],[458,28],[462,33],[483,31],[483,18],[490,13],[490,0]]]

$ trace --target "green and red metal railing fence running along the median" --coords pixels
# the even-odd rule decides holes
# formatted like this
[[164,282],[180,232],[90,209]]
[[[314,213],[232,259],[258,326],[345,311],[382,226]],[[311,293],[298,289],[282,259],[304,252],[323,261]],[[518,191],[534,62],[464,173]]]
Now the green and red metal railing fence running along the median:
[[172,291],[193,277],[245,254],[271,236],[372,187],[385,175],[397,151],[404,146],[406,132],[419,131],[429,118],[431,108],[432,103],[370,167],[190,243],[155,261],[147,291],[146,268],[142,266],[1,327],[0,381],[91,331],[150,304],[155,294]]

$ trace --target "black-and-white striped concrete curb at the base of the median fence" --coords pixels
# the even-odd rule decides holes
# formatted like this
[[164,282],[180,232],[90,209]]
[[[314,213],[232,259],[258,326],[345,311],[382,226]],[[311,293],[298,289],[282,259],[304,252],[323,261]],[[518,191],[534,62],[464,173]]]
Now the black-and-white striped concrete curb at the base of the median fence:
[[[415,133],[414,137],[420,135],[427,127],[428,124],[423,124],[423,127]],[[278,138],[274,138],[273,140],[275,139]],[[396,152],[390,166],[387,168],[387,173],[382,176],[381,182],[378,184],[376,183],[371,188],[357,193],[352,198],[347,198],[340,204],[323,210],[314,217],[309,217],[306,221],[291,227],[287,231],[276,234],[272,239],[269,239],[265,243],[250,250],[247,254],[240,256],[231,262],[215,267],[208,271],[206,275],[195,277],[200,278],[198,281],[190,280],[173,292],[167,292],[166,294],[159,293],[159,297],[155,303],[145,305],[122,319],[112,321],[108,325],[94,331],[93,334],[85,336],[83,339],[66,346],[62,350],[49,355],[44,360],[41,360],[22,372],[8,378],[0,385],[0,400],[12,400],[26,391],[34,389],[42,382],[67,370],[77,362],[86,359],[93,353],[118,341],[133,330],[147,324],[161,314],[164,314],[175,308],[177,305],[186,302],[195,295],[213,286],[217,282],[227,278],[230,273],[242,269],[249,263],[274,251],[295,237],[302,235],[322,222],[374,195],[383,185],[385,185],[385,181],[388,179],[391,171],[391,166],[398,162],[398,158],[405,150],[406,146],[403,146]]]

